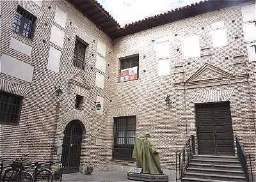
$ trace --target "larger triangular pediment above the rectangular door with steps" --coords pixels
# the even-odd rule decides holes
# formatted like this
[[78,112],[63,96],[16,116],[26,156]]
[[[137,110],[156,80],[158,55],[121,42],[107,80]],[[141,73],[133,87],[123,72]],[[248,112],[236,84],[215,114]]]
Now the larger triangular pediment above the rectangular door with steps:
[[197,70],[186,82],[195,82],[199,80],[219,79],[224,77],[232,77],[233,75],[212,66],[211,64],[205,63],[199,70]]

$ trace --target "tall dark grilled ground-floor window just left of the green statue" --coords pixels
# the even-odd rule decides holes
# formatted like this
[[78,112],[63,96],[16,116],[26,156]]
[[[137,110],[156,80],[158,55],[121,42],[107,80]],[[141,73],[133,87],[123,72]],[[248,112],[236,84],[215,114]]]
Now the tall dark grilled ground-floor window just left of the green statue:
[[132,158],[136,116],[114,118],[113,159],[134,160]]

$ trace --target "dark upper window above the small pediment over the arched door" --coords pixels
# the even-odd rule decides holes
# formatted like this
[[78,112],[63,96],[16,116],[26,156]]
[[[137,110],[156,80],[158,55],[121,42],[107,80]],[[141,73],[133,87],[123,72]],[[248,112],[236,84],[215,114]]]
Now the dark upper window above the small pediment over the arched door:
[[76,45],[75,45],[75,52],[74,52],[74,66],[85,70],[86,63],[85,59],[85,52],[86,47],[88,46],[87,43],[82,42],[79,38],[76,38]]

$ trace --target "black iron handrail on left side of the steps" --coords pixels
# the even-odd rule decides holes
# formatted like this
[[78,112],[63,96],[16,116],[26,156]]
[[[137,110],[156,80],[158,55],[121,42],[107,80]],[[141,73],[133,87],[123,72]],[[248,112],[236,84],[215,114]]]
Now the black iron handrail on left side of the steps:
[[[181,151],[178,153],[175,152],[175,158],[176,158],[176,181],[178,179],[182,179],[184,176],[184,173],[188,167],[188,163],[192,156],[195,155],[195,136],[191,135],[184,145],[184,147],[181,149]],[[178,166],[178,158],[179,158],[179,166]],[[178,169],[179,169],[179,178],[178,178]]]

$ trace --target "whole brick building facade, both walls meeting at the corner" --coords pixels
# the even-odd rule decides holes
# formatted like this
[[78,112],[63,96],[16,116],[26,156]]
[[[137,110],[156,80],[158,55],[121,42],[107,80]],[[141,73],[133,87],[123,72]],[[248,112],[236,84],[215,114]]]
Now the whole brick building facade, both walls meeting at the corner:
[[[1,94],[22,98],[19,122],[0,123],[4,158],[28,153],[28,160],[60,159],[53,148],[63,142],[68,123],[76,121],[80,171],[86,166],[125,170],[135,162],[113,158],[114,118],[136,116],[136,136],[150,132],[163,169],[174,169],[175,151],[189,135],[196,136],[199,150],[196,105],[228,103],[231,132],[253,155],[255,170],[254,1],[114,39],[70,1],[0,3]],[[36,17],[31,38],[13,30],[17,8]],[[74,63],[77,41],[86,47],[84,67]],[[120,82],[120,58],[134,55],[138,79]],[[77,95],[82,96],[78,107]]]

